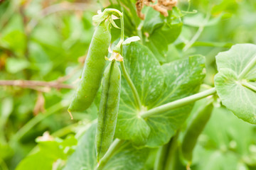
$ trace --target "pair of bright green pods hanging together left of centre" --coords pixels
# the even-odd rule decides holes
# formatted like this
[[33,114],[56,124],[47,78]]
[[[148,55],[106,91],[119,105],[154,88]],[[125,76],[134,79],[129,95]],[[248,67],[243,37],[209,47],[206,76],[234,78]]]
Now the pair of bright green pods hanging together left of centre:
[[96,132],[97,162],[105,155],[114,138],[121,91],[121,72],[117,62],[112,60],[105,69],[107,63],[105,56],[108,53],[110,40],[110,22],[102,21],[92,36],[80,83],[68,108],[69,113],[85,111],[89,108],[103,76]]

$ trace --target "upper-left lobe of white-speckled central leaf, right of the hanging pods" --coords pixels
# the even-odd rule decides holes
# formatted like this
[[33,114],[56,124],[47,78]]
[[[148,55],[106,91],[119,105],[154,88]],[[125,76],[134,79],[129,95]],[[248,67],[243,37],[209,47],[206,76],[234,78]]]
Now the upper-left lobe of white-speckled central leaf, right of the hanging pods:
[[[124,63],[143,106],[159,97],[164,86],[164,72],[152,52],[139,42],[124,47]],[[126,80],[123,80],[126,82]]]

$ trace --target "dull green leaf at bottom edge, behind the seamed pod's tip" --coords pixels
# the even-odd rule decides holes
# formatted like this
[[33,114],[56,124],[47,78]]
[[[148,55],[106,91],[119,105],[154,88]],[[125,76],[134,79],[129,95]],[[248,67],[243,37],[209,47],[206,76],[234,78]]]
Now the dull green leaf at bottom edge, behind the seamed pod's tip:
[[[97,166],[95,151],[96,124],[93,124],[85,135],[78,142],[78,147],[73,155],[68,159],[64,170],[92,169]],[[125,142],[119,147],[117,153],[111,157],[103,169],[114,170],[140,170],[143,168],[149,154],[149,149],[136,149],[131,144]]]

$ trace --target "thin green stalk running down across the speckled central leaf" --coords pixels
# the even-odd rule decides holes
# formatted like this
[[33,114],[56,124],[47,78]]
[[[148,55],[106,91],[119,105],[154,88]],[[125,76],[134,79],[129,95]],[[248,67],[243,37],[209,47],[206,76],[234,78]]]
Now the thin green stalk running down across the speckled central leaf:
[[132,89],[132,93],[134,94],[135,102],[137,103],[137,107],[139,108],[139,111],[142,110],[142,103],[139,99],[139,94],[137,92],[137,89],[135,88],[132,79],[129,77],[129,74],[127,73],[127,70],[125,69],[124,62],[120,62],[121,69],[124,74],[124,78],[126,79],[127,83],[129,84],[130,88]]

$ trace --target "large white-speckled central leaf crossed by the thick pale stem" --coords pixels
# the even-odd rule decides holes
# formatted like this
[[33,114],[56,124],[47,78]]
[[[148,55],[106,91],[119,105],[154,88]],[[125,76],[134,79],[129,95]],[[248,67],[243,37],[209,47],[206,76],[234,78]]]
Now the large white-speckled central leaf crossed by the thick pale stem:
[[205,77],[205,59],[203,56],[193,56],[161,67],[148,48],[133,42],[124,47],[124,63],[139,93],[142,111],[134,103],[132,91],[122,77],[115,136],[131,140],[134,145],[164,145],[186,120],[191,106],[145,120],[140,114],[161,104],[195,94]]

